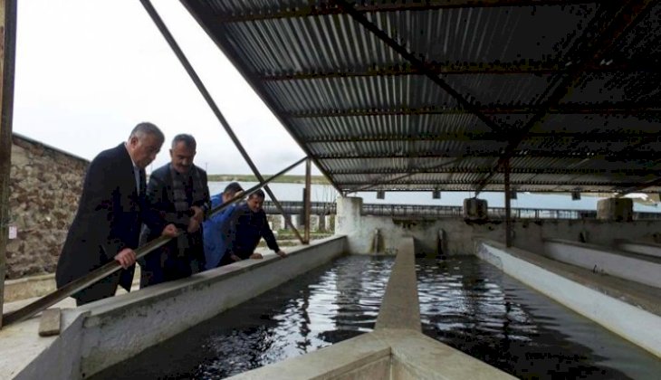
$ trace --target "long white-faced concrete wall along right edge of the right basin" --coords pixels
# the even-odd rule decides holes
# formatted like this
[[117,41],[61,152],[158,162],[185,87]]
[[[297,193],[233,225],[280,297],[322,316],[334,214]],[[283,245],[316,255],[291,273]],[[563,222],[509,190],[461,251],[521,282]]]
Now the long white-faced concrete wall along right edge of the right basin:
[[532,289],[661,357],[661,317],[658,315],[545,269],[553,267],[553,261],[540,255],[486,240],[475,242],[474,252]]

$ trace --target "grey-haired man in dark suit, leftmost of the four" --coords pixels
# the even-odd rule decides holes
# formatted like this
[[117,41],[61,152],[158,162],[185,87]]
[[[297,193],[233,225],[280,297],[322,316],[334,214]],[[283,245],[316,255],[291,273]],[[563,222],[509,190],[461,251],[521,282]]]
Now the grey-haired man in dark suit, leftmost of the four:
[[146,202],[145,167],[156,158],[163,132],[151,123],[140,123],[129,140],[94,157],[82,185],[81,201],[57,263],[58,288],[110,261],[123,270],[99,280],[73,297],[82,304],[112,297],[120,284],[130,290],[135,269],[140,226],[148,224],[164,235],[177,228],[166,225]]

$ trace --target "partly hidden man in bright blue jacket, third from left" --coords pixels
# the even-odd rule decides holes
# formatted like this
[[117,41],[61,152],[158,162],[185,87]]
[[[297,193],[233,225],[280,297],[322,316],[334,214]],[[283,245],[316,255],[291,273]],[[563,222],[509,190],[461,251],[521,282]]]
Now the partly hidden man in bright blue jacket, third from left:
[[[213,210],[219,205],[225,204],[231,199],[234,199],[235,196],[242,191],[244,191],[244,189],[241,188],[241,185],[236,182],[231,182],[229,185],[225,186],[225,190],[222,194],[211,197],[211,209]],[[205,241],[206,270],[216,268],[225,255],[227,239],[225,236],[226,231],[223,233],[223,225],[227,223],[227,220],[235,210],[236,206],[237,204],[228,205],[221,212],[207,219],[202,225]]]

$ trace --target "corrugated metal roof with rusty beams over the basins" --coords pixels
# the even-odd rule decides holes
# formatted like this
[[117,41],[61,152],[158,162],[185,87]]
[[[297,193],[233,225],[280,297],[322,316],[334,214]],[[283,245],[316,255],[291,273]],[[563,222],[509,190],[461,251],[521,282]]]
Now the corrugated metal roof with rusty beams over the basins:
[[182,3],[341,191],[661,191],[658,2]]

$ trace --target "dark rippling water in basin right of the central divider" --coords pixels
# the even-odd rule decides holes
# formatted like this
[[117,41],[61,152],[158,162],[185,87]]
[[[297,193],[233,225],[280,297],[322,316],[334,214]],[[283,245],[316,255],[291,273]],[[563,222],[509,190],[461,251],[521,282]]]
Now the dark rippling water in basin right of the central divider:
[[656,356],[475,257],[418,261],[417,276],[423,332],[512,375],[661,378]]

